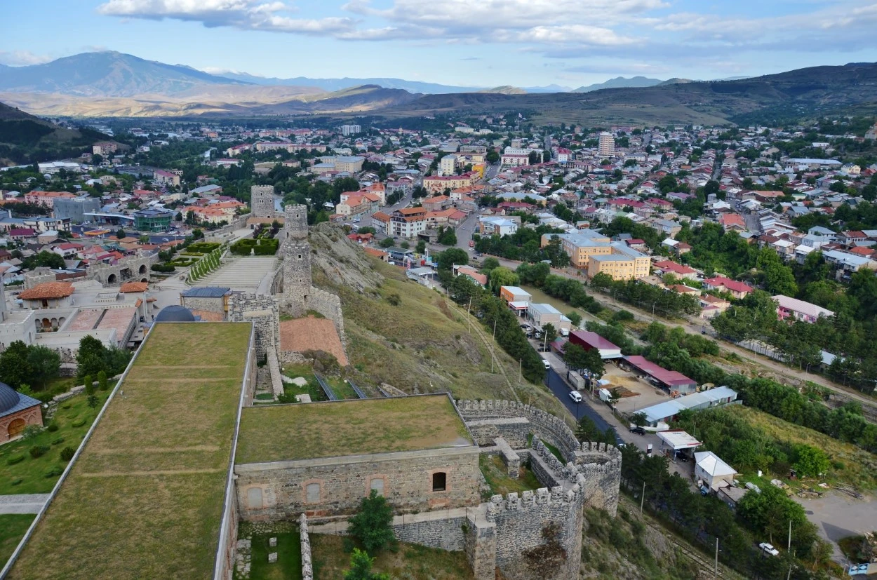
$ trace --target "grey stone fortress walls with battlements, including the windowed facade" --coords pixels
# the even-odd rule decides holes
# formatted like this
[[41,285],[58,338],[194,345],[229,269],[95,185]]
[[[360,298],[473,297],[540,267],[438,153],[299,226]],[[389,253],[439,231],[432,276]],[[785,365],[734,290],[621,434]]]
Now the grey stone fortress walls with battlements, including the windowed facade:
[[[238,465],[241,517],[291,520],[307,513],[311,532],[345,534],[344,515],[355,512],[373,488],[373,479],[380,478],[389,503],[397,513],[403,511],[393,521],[396,537],[464,551],[477,580],[494,580],[497,568],[509,580],[577,579],[582,508],[616,514],[621,452],[605,443],[577,442],[564,421],[528,405],[504,400],[459,400],[455,405],[481,449],[454,458],[453,449],[438,449]],[[560,449],[566,463],[543,441]],[[528,457],[545,487],[479,503],[481,453],[502,456],[510,472]],[[448,490],[459,493],[431,492],[432,470],[448,470]],[[454,470],[466,477],[455,478]],[[471,479],[475,483],[469,487]],[[538,569],[538,557],[528,554],[545,545],[549,527],[556,529],[556,541],[566,553],[563,563],[550,571]]]

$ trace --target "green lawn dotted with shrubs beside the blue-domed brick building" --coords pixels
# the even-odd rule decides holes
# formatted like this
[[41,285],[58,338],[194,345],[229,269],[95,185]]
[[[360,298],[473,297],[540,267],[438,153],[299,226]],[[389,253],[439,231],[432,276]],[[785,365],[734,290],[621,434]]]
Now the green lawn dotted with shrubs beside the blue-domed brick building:
[[[89,407],[89,398],[84,394],[76,395],[62,401],[49,424],[58,426],[57,431],[43,430],[26,441],[16,441],[0,446],[0,495],[7,493],[48,493],[52,491],[61,470],[67,465],[61,461],[61,449],[79,447],[82,437],[88,432],[91,423],[103,407],[103,402],[110,396],[110,392],[96,393],[100,403],[97,407]],[[79,427],[74,423],[83,421]],[[48,424],[46,425],[48,427]],[[29,450],[34,446],[45,445],[49,450],[45,455],[32,457]],[[13,458],[24,456],[25,459],[14,465],[9,462]],[[54,475],[46,477],[46,473],[53,471]],[[19,481],[20,480],[20,481]],[[17,483],[18,482],[18,483]]]

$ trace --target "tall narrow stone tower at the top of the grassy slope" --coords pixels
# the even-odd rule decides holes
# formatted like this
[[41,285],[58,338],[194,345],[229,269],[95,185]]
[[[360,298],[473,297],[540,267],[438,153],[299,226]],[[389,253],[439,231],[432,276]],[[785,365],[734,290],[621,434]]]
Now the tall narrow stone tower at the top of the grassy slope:
[[310,287],[310,243],[308,242],[308,209],[288,205],[281,232],[283,255],[283,310],[289,315],[307,312]]

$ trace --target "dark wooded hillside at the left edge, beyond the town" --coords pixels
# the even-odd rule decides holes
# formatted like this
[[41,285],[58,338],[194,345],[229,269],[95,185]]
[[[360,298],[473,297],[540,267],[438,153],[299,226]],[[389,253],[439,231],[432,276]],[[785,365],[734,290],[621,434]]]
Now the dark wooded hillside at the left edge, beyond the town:
[[90,129],[67,129],[0,103],[0,166],[73,157],[109,139]]

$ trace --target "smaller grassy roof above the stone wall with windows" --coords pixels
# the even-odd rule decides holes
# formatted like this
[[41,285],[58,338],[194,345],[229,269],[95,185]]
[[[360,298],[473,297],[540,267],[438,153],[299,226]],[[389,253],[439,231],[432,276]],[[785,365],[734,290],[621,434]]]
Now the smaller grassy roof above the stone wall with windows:
[[247,407],[236,463],[474,445],[447,395]]

